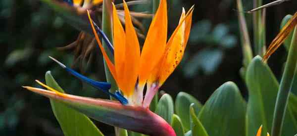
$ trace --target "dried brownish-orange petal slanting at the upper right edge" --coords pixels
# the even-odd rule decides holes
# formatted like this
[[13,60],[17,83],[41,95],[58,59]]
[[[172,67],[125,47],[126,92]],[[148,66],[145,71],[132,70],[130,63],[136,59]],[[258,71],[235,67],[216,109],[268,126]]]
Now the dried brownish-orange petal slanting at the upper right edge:
[[294,16],[287,22],[287,24],[283,27],[281,32],[274,38],[274,40],[269,45],[265,55],[263,56],[263,61],[267,60],[270,55],[284,43],[286,38],[289,36],[290,32],[297,25],[297,12]]

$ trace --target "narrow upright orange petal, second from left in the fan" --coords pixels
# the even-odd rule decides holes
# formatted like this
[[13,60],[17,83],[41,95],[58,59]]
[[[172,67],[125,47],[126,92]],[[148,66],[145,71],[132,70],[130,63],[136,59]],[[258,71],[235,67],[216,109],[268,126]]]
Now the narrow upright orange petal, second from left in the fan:
[[116,8],[113,4],[113,45],[114,45],[114,65],[118,80],[118,86],[122,90],[124,88],[124,66],[125,66],[125,31],[117,15]]

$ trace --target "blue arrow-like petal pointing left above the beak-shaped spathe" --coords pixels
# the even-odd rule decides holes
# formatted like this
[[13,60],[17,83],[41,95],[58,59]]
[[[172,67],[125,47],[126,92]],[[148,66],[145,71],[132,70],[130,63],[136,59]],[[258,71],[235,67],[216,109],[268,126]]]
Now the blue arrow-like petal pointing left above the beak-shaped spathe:
[[102,90],[103,92],[105,92],[108,95],[114,97],[115,99],[117,99],[119,102],[121,102],[124,105],[128,104],[128,100],[120,92],[117,91],[117,92],[115,92],[115,94],[113,94],[113,93],[110,93],[108,91],[111,88],[111,85],[109,83],[107,83],[107,82],[98,82],[98,81],[89,79],[89,78],[77,73],[76,71],[66,67],[64,64],[57,61],[53,57],[49,56],[49,58],[51,58],[53,61],[58,63],[62,68],[64,68],[66,71],[68,71],[68,73],[70,73],[71,75],[77,77],[78,79],[82,80],[83,82],[90,84],[91,86],[93,86],[94,88],[96,88],[98,90]]

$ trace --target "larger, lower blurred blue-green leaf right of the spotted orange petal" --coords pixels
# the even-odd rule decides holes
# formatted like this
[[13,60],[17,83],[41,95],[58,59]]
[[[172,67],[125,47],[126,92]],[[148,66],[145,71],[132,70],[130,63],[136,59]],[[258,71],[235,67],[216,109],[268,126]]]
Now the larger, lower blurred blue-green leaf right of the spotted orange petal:
[[221,64],[223,52],[219,49],[202,49],[194,55],[184,66],[184,75],[186,77],[194,77],[201,68],[205,74],[213,73],[219,64]]

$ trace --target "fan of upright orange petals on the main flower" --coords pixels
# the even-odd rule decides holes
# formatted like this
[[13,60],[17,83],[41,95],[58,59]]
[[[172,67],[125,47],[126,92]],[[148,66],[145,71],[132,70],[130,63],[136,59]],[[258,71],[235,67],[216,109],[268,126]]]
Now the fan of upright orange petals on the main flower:
[[[180,63],[190,34],[193,9],[192,7],[187,14],[183,9],[179,25],[166,44],[167,3],[166,0],[161,0],[149,26],[143,49],[140,51],[126,2],[124,1],[125,29],[113,5],[114,64],[106,55],[90,18],[107,66],[129,104],[148,107],[155,92]],[[143,89],[146,83],[148,90],[143,102]]]

